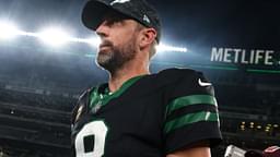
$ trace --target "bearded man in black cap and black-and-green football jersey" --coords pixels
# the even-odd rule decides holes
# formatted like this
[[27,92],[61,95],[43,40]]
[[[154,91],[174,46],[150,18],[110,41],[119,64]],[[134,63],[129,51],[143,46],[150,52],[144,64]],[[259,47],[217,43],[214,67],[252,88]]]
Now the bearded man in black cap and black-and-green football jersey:
[[101,37],[97,64],[108,83],[84,92],[73,110],[77,157],[210,157],[221,141],[213,87],[200,72],[150,74],[161,38],[144,0],[91,0],[83,24]]

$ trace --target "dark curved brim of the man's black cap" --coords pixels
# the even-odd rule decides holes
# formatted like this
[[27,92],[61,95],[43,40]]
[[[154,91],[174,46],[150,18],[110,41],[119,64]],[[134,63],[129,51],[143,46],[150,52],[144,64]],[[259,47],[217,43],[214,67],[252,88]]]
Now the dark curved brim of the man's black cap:
[[88,28],[96,31],[108,9],[108,5],[101,1],[88,1],[82,11],[82,23]]

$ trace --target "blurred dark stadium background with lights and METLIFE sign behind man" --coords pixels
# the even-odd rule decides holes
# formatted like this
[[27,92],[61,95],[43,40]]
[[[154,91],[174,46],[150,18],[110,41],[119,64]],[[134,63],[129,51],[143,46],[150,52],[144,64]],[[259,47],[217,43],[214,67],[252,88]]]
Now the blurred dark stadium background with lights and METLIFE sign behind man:
[[[265,0],[148,0],[162,19],[151,71],[190,68],[215,87],[228,145],[280,144],[280,4]],[[0,0],[0,157],[69,157],[71,110],[103,83],[85,0]]]

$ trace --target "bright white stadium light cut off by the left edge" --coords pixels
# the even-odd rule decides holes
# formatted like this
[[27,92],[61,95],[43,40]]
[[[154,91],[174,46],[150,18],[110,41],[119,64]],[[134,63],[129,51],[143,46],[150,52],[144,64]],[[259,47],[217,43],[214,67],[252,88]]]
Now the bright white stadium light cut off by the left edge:
[[12,39],[19,34],[21,31],[13,23],[0,22],[0,39]]

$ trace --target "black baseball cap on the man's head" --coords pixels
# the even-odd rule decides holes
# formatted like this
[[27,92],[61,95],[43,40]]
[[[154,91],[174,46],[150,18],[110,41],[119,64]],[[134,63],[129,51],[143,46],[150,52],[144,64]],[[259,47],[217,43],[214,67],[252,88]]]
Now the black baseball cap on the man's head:
[[160,17],[155,9],[145,0],[90,0],[83,8],[82,22],[88,28],[96,31],[104,14],[112,10],[139,22],[145,27],[154,28],[158,33],[155,39],[160,43]]

